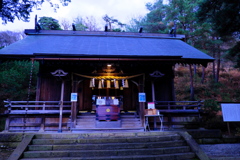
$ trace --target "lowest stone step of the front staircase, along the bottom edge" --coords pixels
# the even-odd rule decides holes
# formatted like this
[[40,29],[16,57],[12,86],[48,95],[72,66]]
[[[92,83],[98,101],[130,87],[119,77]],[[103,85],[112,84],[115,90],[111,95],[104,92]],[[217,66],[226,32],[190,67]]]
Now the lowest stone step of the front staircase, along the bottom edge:
[[[131,155],[107,157],[61,157],[61,158],[22,158],[21,160],[190,160],[195,159],[192,152],[174,153],[164,155]],[[196,160],[196,159],[195,159]]]

